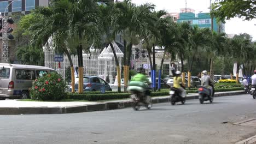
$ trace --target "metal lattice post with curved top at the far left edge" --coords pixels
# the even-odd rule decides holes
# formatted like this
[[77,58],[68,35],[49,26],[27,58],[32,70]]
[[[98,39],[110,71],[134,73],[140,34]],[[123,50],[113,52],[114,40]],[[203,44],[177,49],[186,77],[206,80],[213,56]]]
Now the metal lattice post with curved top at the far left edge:
[[[21,1],[21,0],[14,0],[14,1],[11,1],[7,7],[5,8],[4,10],[4,16],[3,16],[3,20],[2,20],[2,26],[3,26],[3,29],[2,29],[2,45],[3,45],[3,48],[2,48],[2,59],[0,59],[1,61],[3,62],[8,62],[9,61],[9,37],[8,37],[8,32],[10,32],[10,29],[8,29],[8,16],[5,16],[5,13],[7,12],[7,9],[9,7],[9,5],[13,2],[16,2],[16,1]],[[9,2],[9,1],[8,1]],[[2,15],[1,15],[2,16]],[[13,31],[13,30],[11,30]]]

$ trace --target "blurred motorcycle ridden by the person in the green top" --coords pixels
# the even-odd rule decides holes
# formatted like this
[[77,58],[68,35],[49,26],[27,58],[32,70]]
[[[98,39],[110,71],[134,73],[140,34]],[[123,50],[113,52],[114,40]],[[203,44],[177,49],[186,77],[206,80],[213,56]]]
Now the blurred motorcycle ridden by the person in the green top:
[[131,92],[130,98],[133,101],[133,110],[137,111],[141,108],[141,106],[145,106],[146,109],[151,109],[152,99],[149,96],[150,91],[143,88],[142,86],[134,86],[132,84],[132,82],[129,83],[129,87],[127,88],[127,90]]

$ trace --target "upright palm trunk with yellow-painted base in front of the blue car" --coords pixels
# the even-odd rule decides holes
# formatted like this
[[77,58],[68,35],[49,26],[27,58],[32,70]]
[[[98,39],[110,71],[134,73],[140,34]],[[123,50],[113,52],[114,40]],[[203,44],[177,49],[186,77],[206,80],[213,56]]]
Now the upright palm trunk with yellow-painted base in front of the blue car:
[[83,47],[79,45],[77,48],[78,57],[78,93],[83,93],[84,91],[84,66],[83,66]]

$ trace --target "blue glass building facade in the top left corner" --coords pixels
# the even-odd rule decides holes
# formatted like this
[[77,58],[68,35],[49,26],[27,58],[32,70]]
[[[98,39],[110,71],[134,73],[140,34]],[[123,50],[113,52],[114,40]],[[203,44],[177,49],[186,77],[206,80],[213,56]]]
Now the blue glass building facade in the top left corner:
[[49,0],[21,0],[11,2],[10,0],[0,0],[0,12],[2,15],[4,15],[4,12],[6,13],[5,15],[11,15],[11,13],[29,14],[31,10],[38,6],[48,7],[49,5]]

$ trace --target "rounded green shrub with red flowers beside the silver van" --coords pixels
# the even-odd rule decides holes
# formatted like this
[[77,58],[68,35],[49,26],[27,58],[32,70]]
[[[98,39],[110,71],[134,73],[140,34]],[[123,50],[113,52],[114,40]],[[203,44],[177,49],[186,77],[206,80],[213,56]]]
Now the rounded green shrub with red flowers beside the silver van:
[[34,100],[62,100],[67,95],[65,89],[66,83],[61,75],[51,73],[33,82],[30,96]]

